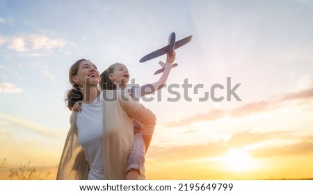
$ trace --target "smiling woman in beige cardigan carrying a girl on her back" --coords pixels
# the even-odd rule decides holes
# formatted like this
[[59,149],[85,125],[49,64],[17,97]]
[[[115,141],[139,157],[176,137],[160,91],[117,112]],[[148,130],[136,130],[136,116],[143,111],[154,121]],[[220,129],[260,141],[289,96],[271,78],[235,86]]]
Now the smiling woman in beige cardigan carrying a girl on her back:
[[[89,60],[74,63],[69,73],[73,88],[67,106],[81,100],[83,111],[72,112],[70,131],[56,179],[126,179],[128,155],[134,140],[134,120],[152,136],[155,115],[120,90],[100,91],[99,72]],[[104,100],[115,99],[115,100]]]

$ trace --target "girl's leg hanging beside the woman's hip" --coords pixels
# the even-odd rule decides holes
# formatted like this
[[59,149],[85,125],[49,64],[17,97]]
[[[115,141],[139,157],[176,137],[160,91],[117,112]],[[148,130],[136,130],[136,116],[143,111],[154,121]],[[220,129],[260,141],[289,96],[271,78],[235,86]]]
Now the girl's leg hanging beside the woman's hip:
[[145,163],[145,141],[141,131],[134,132],[134,143],[127,161],[127,180],[140,179]]

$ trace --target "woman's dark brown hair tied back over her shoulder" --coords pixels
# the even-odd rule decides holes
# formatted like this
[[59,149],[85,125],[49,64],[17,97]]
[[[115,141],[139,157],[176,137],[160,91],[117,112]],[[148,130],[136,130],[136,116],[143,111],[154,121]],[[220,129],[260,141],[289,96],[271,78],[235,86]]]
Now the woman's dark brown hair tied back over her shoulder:
[[70,90],[68,90],[66,93],[67,98],[65,99],[65,103],[66,103],[66,106],[70,109],[70,111],[72,111],[72,108],[73,108],[75,102],[83,100],[83,93],[79,89],[79,84],[74,83],[74,81],[72,80],[72,76],[77,75],[77,72],[79,70],[79,64],[83,60],[86,60],[86,59],[82,58],[82,59],[77,60],[77,62],[74,63],[70,67],[70,71],[68,74],[69,79],[70,79],[70,83],[72,84],[72,88]]

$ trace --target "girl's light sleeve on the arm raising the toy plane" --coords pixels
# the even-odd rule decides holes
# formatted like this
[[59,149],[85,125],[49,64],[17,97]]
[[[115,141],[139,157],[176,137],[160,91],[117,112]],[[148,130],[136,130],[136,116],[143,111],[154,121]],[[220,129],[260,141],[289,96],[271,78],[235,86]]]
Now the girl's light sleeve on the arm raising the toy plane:
[[166,83],[166,80],[168,79],[168,75],[170,74],[170,70],[172,70],[172,63],[166,63],[164,65],[164,72],[161,75],[159,81],[154,83],[148,83],[141,87],[134,88],[134,91],[132,92],[133,97],[139,99],[144,95],[149,95],[152,92],[155,92],[156,90],[163,88],[164,84]]

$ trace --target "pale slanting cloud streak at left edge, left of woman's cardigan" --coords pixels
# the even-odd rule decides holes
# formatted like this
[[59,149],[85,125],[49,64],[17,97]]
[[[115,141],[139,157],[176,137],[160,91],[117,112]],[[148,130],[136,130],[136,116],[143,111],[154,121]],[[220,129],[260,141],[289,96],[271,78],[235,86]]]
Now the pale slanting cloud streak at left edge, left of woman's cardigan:
[[9,124],[14,124],[23,129],[31,131],[40,136],[45,136],[47,138],[60,138],[61,135],[56,129],[50,129],[48,127],[42,126],[41,124],[31,122],[29,120],[24,120],[21,118],[15,118],[13,116],[7,115],[5,113],[0,113],[0,118],[8,122]]

